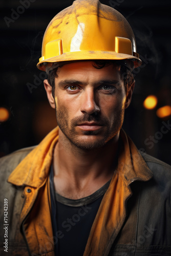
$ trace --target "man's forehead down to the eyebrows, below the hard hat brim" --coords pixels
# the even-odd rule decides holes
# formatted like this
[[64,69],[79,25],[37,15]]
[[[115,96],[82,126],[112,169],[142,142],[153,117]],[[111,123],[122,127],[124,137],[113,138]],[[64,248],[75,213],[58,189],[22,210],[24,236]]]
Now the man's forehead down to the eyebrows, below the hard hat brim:
[[122,86],[121,76],[114,65],[108,65],[102,68],[94,66],[93,61],[74,62],[60,67],[57,70],[55,84],[59,88],[71,84],[82,86],[93,85],[117,85]]

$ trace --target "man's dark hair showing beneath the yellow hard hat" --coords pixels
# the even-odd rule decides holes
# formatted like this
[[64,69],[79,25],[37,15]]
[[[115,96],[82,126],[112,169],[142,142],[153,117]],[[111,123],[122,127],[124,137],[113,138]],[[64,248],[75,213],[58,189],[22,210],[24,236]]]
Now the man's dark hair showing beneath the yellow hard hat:
[[[119,62],[114,61],[114,60],[93,60],[93,62],[94,62],[93,67],[96,69],[102,69],[105,66],[109,66],[111,64],[115,65],[116,69],[120,72],[121,79],[124,81],[126,96],[129,94],[131,86],[134,82],[134,75],[127,67],[125,67],[124,65],[122,65]],[[58,66],[57,68],[52,69],[52,71],[50,71],[48,73],[48,82],[49,82],[50,86],[52,87],[52,96],[53,97],[54,97],[54,91],[55,91],[55,77],[56,78],[58,77],[57,69],[62,66],[63,65]]]

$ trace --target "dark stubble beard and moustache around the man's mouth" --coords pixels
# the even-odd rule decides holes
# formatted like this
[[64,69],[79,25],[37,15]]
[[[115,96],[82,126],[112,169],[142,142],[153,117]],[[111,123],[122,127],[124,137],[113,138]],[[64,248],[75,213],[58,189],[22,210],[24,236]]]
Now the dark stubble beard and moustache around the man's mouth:
[[[56,118],[58,126],[65,135],[66,139],[76,147],[80,148],[84,151],[95,150],[97,148],[103,147],[106,143],[112,140],[120,131],[124,119],[124,111],[122,109],[117,109],[112,117],[112,125],[106,118],[100,118],[99,114],[84,114],[83,117],[76,117],[71,120],[71,124],[69,125],[69,117],[66,110],[56,110]],[[86,122],[86,121],[98,121],[103,123],[108,129],[106,133],[103,135],[102,139],[86,141],[83,139],[79,139],[79,135],[77,135],[75,130],[75,125],[77,123]],[[82,131],[82,135],[85,136],[98,136],[99,131]]]

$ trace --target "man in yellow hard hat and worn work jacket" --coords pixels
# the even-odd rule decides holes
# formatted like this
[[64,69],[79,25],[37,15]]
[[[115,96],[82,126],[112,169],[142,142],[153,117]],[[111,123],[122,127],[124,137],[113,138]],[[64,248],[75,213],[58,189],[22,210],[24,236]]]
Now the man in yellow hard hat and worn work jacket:
[[58,127],[1,159],[2,254],[171,255],[170,166],[121,130],[140,65],[130,25],[98,0],[52,19],[37,67]]

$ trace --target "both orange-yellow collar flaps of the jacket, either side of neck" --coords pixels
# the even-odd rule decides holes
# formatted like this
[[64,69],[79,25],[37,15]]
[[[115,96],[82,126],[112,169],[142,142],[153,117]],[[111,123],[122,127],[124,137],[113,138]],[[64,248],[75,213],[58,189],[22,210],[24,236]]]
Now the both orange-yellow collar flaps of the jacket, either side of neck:
[[[58,141],[58,127],[52,130],[38,146],[17,165],[8,178],[8,182],[16,185],[40,187],[48,177],[53,159],[54,146]],[[129,186],[135,180],[147,181],[153,174],[132,140],[120,131],[120,152],[117,171]]]

